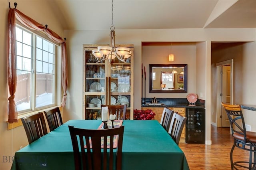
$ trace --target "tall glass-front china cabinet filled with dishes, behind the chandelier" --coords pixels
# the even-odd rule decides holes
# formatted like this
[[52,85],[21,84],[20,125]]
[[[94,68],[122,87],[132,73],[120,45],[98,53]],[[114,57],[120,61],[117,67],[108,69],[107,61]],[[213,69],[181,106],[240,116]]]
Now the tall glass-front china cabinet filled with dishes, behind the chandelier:
[[101,104],[126,104],[126,119],[133,119],[133,45],[116,45],[132,51],[126,63],[117,57],[98,62],[92,54],[98,46],[102,45],[83,45],[83,119],[101,119]]

